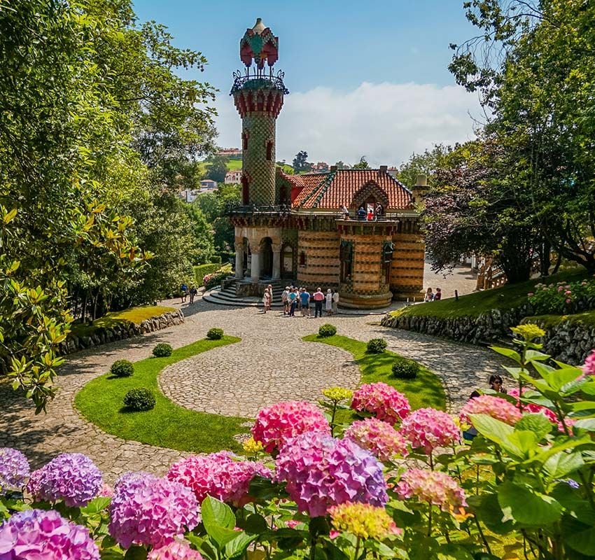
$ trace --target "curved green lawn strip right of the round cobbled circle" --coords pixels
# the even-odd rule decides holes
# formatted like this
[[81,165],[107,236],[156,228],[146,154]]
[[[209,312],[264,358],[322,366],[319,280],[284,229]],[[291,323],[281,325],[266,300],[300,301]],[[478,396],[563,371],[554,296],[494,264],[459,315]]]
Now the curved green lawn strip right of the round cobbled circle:
[[[330,346],[337,346],[337,348],[351,352],[353,359],[360,368],[362,383],[377,383],[378,381],[382,381],[387,385],[393,386],[407,396],[412,409],[433,407],[444,410],[446,408],[446,395],[444,394],[442,381],[440,381],[440,378],[435,373],[430,372],[427,367],[423,367],[420,364],[420,370],[415,379],[397,379],[393,376],[392,367],[394,361],[405,359],[399,356],[398,353],[388,350],[381,354],[367,353],[365,342],[360,342],[359,340],[342,335],[325,338],[318,335],[307,335],[303,340],[307,342],[322,342],[323,344],[330,344]],[[339,410],[337,419],[341,422],[346,422],[355,419],[355,415],[351,411]]]

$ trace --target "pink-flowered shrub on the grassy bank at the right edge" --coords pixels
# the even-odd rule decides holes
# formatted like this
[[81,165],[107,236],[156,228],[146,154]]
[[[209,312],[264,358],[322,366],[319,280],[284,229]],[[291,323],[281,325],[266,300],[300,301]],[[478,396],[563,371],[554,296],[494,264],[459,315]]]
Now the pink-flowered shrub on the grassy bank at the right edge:
[[569,314],[595,307],[595,279],[535,284],[528,293],[535,315]]

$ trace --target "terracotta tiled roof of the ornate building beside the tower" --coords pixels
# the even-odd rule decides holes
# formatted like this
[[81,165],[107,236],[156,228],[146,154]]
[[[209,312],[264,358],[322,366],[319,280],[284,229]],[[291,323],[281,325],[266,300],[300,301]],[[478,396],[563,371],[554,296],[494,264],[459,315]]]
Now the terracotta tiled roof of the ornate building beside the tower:
[[358,204],[354,196],[366,186],[374,186],[386,195],[386,210],[411,207],[412,194],[402,183],[378,169],[337,169],[328,173],[309,173],[301,176],[304,188],[293,202],[295,209],[339,210],[343,204]]

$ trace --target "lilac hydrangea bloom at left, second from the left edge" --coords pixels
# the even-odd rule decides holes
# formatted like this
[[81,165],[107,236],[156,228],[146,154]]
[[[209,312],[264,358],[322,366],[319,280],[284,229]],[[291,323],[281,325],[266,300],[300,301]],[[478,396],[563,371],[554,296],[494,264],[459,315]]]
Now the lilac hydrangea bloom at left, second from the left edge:
[[102,489],[102,472],[82,453],[62,453],[31,472],[27,491],[34,500],[64,500],[68,507],[82,507]]

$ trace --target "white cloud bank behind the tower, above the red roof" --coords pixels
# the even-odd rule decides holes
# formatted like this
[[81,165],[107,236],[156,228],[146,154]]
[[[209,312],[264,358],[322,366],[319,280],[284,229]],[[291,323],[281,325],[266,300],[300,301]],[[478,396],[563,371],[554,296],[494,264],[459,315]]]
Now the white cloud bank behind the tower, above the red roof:
[[[233,101],[217,100],[220,146],[239,146],[241,123]],[[462,87],[368,83],[341,92],[316,87],[286,96],[276,134],[276,158],[290,162],[300,150],[310,161],[353,163],[365,155],[372,167],[398,165],[433,144],[474,137],[470,115],[477,97]]]

